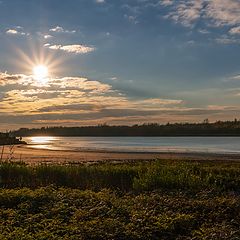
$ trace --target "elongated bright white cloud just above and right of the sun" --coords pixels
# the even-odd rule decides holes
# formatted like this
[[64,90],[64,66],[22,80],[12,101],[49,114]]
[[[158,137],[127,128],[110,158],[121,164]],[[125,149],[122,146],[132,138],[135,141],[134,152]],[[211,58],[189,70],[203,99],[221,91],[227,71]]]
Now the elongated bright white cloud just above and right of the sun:
[[73,45],[50,45],[49,43],[44,45],[45,47],[52,49],[52,50],[61,50],[68,53],[75,53],[75,54],[84,54],[90,53],[95,50],[94,47],[89,47],[80,44],[73,44]]

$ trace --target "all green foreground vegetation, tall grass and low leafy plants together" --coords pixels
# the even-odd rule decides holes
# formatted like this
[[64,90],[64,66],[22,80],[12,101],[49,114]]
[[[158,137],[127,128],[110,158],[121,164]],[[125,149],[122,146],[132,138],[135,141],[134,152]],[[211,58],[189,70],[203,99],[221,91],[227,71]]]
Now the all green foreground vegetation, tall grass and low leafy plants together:
[[0,165],[0,239],[239,239],[240,163]]

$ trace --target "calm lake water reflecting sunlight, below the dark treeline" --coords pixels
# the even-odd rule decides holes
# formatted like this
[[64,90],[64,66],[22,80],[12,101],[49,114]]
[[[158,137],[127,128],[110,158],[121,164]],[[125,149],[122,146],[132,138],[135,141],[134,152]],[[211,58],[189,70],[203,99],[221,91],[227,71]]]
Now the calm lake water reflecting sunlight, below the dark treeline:
[[240,153],[240,137],[25,137],[28,147],[113,152]]

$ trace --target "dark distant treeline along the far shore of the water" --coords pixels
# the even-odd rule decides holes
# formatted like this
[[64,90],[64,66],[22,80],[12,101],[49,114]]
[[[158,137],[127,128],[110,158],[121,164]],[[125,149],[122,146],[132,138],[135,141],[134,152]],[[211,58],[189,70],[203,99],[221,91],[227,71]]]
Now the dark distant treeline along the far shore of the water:
[[15,136],[240,136],[240,121],[217,121],[209,123],[157,123],[133,126],[82,126],[20,128]]

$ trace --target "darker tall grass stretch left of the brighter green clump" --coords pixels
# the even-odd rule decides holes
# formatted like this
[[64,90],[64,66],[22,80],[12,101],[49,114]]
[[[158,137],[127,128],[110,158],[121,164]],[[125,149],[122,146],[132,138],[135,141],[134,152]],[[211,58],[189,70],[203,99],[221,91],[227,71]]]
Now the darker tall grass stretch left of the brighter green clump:
[[132,189],[137,168],[128,165],[40,165],[4,163],[0,165],[0,186],[4,188],[55,185],[79,189]]

